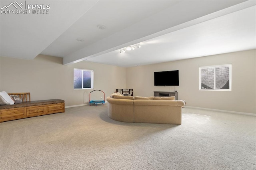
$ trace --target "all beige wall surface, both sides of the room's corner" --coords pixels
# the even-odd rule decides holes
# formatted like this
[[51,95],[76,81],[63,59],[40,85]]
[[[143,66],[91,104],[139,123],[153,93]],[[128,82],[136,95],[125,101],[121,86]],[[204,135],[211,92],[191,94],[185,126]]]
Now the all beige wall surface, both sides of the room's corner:
[[[199,67],[232,64],[232,91],[199,91]],[[256,113],[256,50],[122,68],[82,61],[62,65],[62,58],[38,55],[33,60],[0,57],[0,91],[30,92],[32,100],[64,99],[66,106],[88,103],[92,90],[73,89],[73,69],[94,70],[94,89],[106,96],[116,88],[133,88],[134,95],[153,91],[179,92],[188,106]],[[180,86],[154,86],[154,72],[179,70]],[[92,100],[101,93],[92,93]]]

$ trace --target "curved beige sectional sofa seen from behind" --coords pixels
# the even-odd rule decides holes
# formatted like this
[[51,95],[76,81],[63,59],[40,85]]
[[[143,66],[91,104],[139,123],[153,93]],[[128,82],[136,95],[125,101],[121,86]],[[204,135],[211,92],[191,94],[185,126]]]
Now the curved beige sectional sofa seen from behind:
[[111,95],[108,117],[130,123],[165,123],[181,125],[182,100],[175,97],[133,97]]

